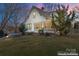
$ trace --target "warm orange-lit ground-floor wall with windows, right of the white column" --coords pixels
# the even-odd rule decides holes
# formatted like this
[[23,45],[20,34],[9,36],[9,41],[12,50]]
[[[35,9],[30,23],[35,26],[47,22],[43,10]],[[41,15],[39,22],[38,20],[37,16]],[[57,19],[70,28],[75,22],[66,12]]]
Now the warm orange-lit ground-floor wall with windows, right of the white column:
[[34,29],[39,30],[39,29],[45,29],[45,30],[51,30],[52,29],[52,22],[51,20],[46,20],[44,22],[38,22],[34,24]]

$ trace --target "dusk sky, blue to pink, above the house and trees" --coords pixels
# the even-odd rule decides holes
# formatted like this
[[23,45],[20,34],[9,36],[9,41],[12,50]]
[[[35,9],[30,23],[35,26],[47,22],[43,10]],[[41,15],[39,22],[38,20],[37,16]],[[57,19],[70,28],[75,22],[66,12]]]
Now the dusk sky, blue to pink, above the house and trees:
[[[53,3],[52,3],[53,4]],[[63,4],[63,5],[69,5],[69,10],[73,10],[75,7],[78,7],[79,8],[79,3],[60,3],[60,4]],[[19,4],[20,7],[24,8],[24,9],[31,9],[32,6],[36,6],[38,8],[41,8],[41,7],[45,7],[45,5],[48,5],[47,9],[50,9],[50,4],[49,3],[21,3]],[[56,5],[56,3],[53,4],[54,6]],[[56,6],[55,6],[56,7]],[[2,19],[2,11],[5,9],[5,6],[4,6],[4,3],[0,3],[0,21]]]

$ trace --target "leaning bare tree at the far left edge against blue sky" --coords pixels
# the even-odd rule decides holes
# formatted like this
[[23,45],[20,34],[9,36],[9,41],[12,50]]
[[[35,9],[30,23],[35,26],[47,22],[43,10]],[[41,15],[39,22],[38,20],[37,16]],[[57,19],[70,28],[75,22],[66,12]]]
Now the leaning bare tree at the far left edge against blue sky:
[[4,4],[5,8],[1,12],[2,14],[2,22],[0,23],[0,34],[3,32],[2,35],[4,35],[4,29],[8,23],[8,20],[11,18],[11,15],[14,12],[13,4]]

